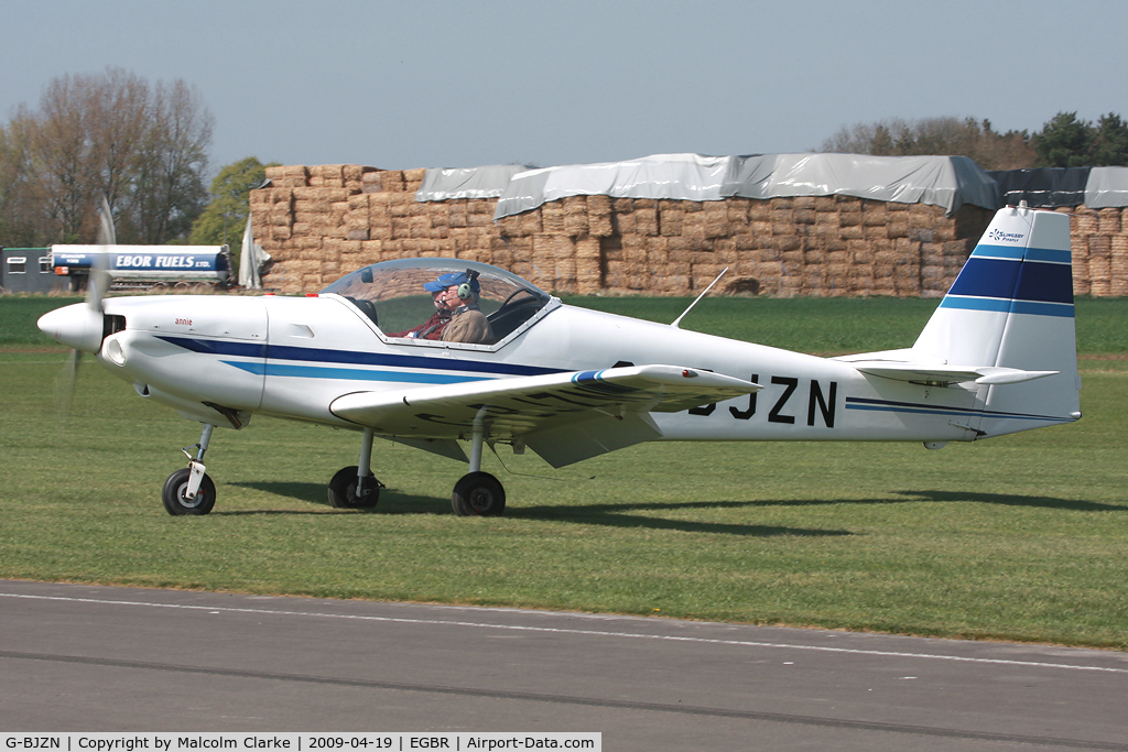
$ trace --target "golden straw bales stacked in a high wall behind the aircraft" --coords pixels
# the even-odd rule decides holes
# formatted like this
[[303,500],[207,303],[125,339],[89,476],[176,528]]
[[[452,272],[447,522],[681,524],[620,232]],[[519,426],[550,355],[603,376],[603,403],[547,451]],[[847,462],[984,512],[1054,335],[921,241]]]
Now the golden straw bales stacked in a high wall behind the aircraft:
[[[569,196],[494,221],[496,198],[420,202],[424,169],[267,168],[253,191],[264,280],[315,292],[368,264],[443,256],[506,268],[558,293],[941,295],[994,212],[848,196],[676,201]],[[1066,207],[1074,290],[1128,294],[1128,210]]]

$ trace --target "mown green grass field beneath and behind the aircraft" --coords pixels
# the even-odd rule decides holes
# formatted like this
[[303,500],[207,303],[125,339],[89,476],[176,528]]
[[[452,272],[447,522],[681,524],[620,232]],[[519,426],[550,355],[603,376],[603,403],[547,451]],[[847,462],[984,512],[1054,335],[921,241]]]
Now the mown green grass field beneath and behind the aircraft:
[[[371,513],[331,508],[349,432],[255,418],[218,432],[215,512],[171,517],[165,477],[199,426],[65,351],[0,299],[0,577],[433,601],[1128,649],[1128,301],[1077,306],[1085,418],[918,444],[646,444],[563,470],[485,469],[503,517],[464,519],[459,463],[380,442]],[[684,300],[583,304],[672,320]],[[686,320],[818,353],[907,346],[918,300],[716,299]]]

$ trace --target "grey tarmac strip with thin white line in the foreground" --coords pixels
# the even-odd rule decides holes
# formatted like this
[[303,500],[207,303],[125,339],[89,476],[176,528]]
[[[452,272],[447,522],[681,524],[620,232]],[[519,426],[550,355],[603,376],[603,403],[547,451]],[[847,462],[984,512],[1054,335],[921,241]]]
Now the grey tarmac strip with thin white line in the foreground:
[[0,731],[600,732],[605,750],[1128,750],[1128,655],[0,581]]

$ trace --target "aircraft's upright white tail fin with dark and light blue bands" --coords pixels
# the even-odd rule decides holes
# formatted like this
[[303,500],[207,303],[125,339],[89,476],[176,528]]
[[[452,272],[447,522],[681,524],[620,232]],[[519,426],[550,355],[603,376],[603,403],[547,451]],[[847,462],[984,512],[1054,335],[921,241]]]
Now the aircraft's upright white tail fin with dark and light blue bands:
[[981,374],[986,435],[1079,418],[1069,216],[999,210],[909,353]]

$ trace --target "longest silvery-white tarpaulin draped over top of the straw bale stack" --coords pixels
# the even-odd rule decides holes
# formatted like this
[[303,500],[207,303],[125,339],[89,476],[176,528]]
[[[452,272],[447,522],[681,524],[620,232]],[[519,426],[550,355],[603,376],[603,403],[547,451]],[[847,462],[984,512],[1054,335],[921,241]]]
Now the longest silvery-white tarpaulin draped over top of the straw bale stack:
[[949,214],[963,204],[998,206],[997,184],[967,157],[655,154],[519,172],[501,194],[494,219],[580,195],[686,201],[844,195],[934,204]]

